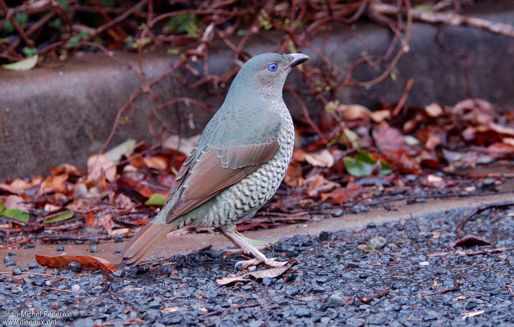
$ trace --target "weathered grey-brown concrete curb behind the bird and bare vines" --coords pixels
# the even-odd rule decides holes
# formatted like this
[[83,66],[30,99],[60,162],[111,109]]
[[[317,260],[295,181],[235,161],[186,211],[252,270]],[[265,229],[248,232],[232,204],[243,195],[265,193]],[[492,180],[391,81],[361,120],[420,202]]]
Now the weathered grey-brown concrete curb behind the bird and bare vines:
[[[511,22],[514,2],[494,3],[476,7],[465,13],[495,22]],[[383,54],[392,35],[389,30],[358,23],[355,29],[336,27],[327,35],[319,34],[313,44],[333,62],[346,70],[361,56],[362,44],[347,36],[358,34],[368,47],[370,54]],[[431,102],[451,105],[466,99],[464,82],[465,61],[456,59],[440,49],[434,42],[437,26],[415,23],[412,31],[410,52],[402,57],[397,70],[397,79],[387,79],[370,89],[345,88],[337,98],[342,103],[359,103],[371,108],[380,101],[397,102],[408,79],[415,84],[410,92],[409,106],[425,106]],[[326,36],[326,39],[325,39]],[[282,35],[269,33],[265,38],[250,40],[245,51],[259,53],[269,50],[273,40]],[[470,80],[475,98],[483,98],[500,107],[512,107],[514,94],[514,39],[484,30],[467,27],[447,27],[442,41],[451,49],[470,54],[472,67]],[[325,46],[323,46],[325,44]],[[161,49],[144,55],[144,71],[152,80],[171,67],[178,56],[171,56]],[[306,50],[316,66],[317,56]],[[115,53],[125,61],[136,65],[133,53]],[[210,70],[223,74],[232,67],[233,53],[225,47],[213,45],[209,52]],[[201,71],[201,67],[196,67]],[[355,78],[366,81],[376,73],[361,67]],[[302,87],[298,74],[292,73],[288,84]],[[113,62],[102,53],[77,56],[59,69],[35,68],[27,72],[12,72],[0,69],[0,113],[6,108],[8,136],[0,133],[0,182],[6,178],[28,177],[46,174],[48,169],[61,163],[85,167],[86,159],[97,152],[107,139],[118,109],[133,91],[140,88],[139,79],[123,65]],[[153,91],[160,101],[178,96],[187,96],[217,109],[223,102],[220,91],[212,87],[186,89],[171,78],[166,78]],[[289,103],[293,116],[301,117],[301,110],[294,105],[290,94],[284,98]],[[305,99],[313,116],[321,105],[313,99]],[[132,137],[137,140],[149,138],[148,117],[152,106],[156,106],[146,95],[133,104],[130,121],[121,125],[111,143],[114,146]],[[186,134],[199,133],[210,118],[210,113],[196,107],[179,105],[179,119],[175,108],[162,110],[162,118],[171,127],[192,114],[194,129],[186,128]]]

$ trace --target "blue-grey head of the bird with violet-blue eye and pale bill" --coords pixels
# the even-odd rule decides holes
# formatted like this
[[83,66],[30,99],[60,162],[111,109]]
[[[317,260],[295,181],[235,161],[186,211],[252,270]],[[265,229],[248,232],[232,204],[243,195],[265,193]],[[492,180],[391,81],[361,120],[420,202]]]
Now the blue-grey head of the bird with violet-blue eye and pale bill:
[[234,84],[255,89],[265,96],[281,95],[291,68],[309,59],[309,56],[303,53],[259,54],[245,63],[237,73]]

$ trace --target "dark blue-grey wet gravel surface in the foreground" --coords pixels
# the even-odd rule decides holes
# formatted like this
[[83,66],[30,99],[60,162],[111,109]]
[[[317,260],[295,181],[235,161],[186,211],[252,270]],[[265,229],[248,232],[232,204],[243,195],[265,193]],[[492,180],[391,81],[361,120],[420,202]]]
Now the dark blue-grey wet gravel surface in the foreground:
[[[31,263],[29,272],[19,267],[18,275],[0,275],[1,309],[65,312],[58,325],[80,326],[512,325],[513,213],[486,210],[466,223],[464,234],[491,246],[448,247],[463,217],[456,210],[358,232],[281,239],[267,256],[294,258],[297,265],[277,278],[247,276],[249,282],[223,286],[216,279],[241,274],[234,269],[241,257],[222,261],[211,249],[107,277]],[[379,237],[381,249],[357,248]],[[491,248],[504,249],[484,251]]]

